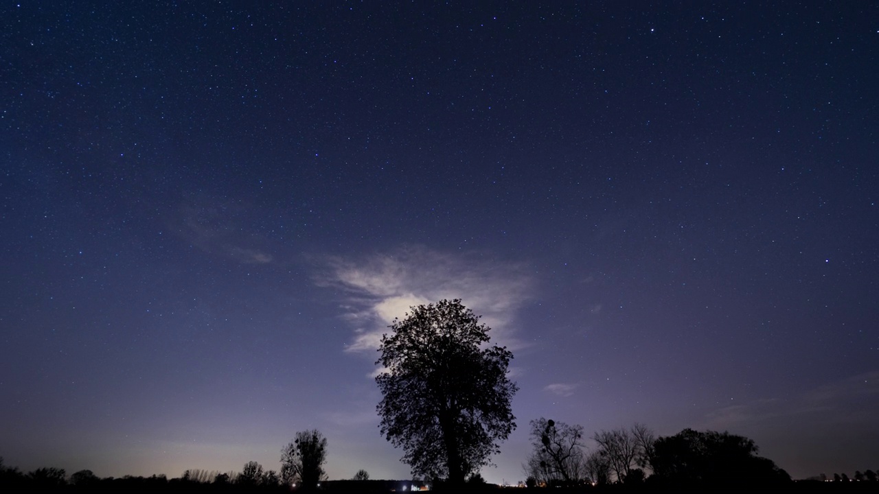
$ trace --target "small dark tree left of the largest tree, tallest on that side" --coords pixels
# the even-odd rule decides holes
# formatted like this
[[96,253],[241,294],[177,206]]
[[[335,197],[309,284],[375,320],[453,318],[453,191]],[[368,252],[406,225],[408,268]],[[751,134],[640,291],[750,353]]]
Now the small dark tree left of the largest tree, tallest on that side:
[[317,483],[326,477],[326,460],[327,440],[321,432],[296,432],[296,439],[281,449],[281,481],[287,485],[298,483],[303,490],[317,489]]

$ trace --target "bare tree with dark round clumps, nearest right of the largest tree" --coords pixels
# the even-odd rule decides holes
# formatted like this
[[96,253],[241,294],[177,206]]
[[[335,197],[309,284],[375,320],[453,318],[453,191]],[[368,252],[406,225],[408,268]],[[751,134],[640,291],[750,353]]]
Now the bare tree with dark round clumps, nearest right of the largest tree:
[[526,474],[546,483],[576,483],[583,477],[583,426],[551,419],[531,421],[534,452]]

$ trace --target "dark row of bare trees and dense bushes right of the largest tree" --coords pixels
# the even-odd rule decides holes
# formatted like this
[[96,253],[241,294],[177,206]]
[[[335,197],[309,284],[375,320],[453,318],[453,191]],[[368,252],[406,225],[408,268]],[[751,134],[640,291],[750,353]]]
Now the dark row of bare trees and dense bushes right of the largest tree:
[[781,485],[790,476],[757,455],[753,440],[729,432],[685,429],[659,437],[645,425],[595,432],[585,454],[583,426],[531,421],[527,484],[548,486],[650,483],[657,487]]

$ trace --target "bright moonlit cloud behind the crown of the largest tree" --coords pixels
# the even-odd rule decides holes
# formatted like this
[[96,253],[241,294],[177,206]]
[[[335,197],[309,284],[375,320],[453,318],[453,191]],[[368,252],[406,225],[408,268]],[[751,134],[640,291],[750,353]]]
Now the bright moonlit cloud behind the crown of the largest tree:
[[461,299],[490,328],[492,342],[511,350],[526,346],[516,338],[517,310],[530,298],[532,282],[524,265],[475,255],[404,247],[363,258],[330,258],[316,278],[342,294],[345,317],[354,326],[345,352],[375,350],[395,318],[412,306]]

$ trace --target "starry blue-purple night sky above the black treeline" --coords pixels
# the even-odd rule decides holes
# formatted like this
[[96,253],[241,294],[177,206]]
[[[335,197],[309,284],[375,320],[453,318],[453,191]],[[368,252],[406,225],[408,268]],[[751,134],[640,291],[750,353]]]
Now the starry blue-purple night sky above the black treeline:
[[0,6],[0,455],[408,478],[382,331],[461,298],[528,421],[879,459],[879,5]]

